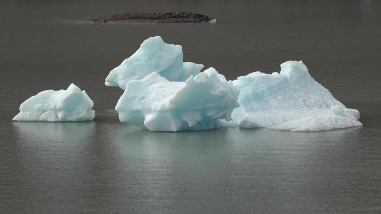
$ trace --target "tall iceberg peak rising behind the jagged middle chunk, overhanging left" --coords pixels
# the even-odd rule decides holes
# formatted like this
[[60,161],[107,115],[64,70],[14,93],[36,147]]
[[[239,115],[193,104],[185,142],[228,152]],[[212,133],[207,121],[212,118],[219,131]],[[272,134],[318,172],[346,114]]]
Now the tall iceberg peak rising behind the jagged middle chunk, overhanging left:
[[150,37],[132,56],[110,71],[105,85],[124,90],[128,81],[141,80],[153,72],[169,81],[185,81],[200,73],[203,65],[183,62],[182,56],[181,45],[168,45],[160,36]]

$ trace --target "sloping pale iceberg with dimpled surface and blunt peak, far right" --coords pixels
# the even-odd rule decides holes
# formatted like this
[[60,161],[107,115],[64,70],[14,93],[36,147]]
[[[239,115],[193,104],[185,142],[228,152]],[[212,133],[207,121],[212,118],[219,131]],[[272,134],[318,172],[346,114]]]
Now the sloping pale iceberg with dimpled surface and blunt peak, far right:
[[238,77],[240,107],[231,125],[288,131],[322,131],[361,126],[360,113],[346,108],[315,81],[302,61],[280,65],[280,73],[261,72]]

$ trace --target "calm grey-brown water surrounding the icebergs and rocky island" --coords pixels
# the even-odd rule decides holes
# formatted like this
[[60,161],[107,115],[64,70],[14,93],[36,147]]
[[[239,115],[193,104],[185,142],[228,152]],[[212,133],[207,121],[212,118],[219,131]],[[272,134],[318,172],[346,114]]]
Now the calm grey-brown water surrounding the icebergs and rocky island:
[[[216,24],[72,24],[191,11]],[[381,1],[2,0],[0,213],[381,213]],[[303,60],[361,113],[315,133],[150,133],[118,121],[109,71],[155,35],[228,79]],[[11,122],[19,105],[75,83],[96,120]]]

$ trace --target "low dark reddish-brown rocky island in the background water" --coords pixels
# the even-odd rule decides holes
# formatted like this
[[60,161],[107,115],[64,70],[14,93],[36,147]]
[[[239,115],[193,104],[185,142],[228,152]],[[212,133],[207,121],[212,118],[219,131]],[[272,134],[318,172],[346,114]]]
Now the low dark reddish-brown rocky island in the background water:
[[125,13],[110,17],[86,19],[94,23],[117,22],[117,23],[186,23],[186,22],[209,22],[215,19],[197,13]]

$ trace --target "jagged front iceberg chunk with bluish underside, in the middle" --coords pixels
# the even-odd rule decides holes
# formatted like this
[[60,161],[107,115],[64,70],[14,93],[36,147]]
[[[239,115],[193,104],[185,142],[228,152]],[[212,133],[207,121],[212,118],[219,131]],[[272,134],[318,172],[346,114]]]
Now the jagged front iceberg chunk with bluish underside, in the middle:
[[150,131],[212,129],[218,119],[231,120],[238,95],[232,81],[213,68],[185,82],[168,81],[153,72],[129,81],[115,110],[120,121]]

